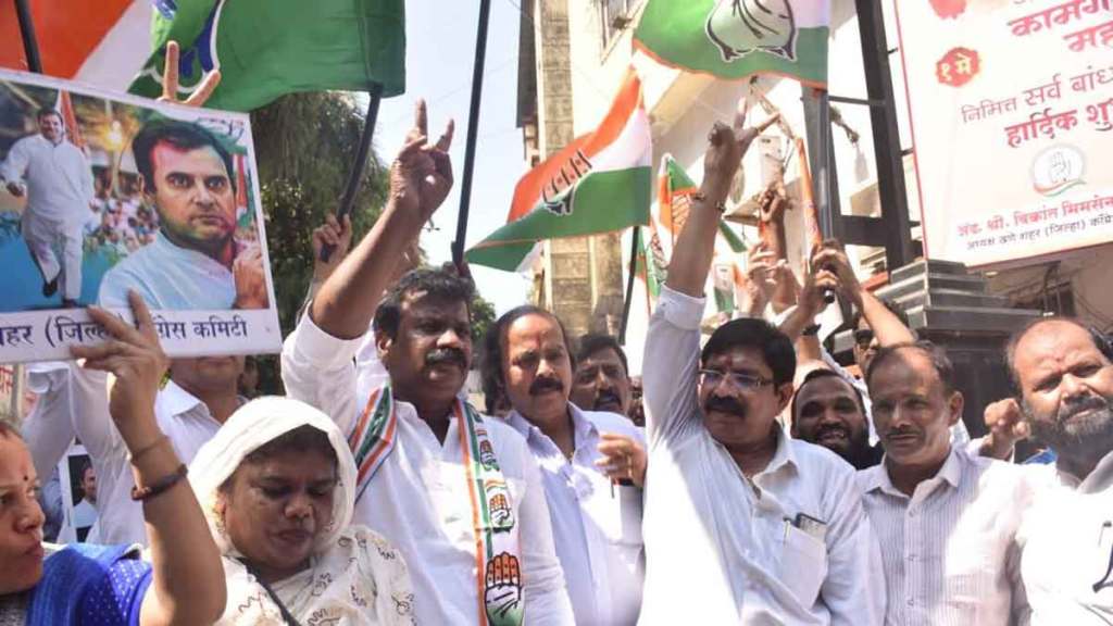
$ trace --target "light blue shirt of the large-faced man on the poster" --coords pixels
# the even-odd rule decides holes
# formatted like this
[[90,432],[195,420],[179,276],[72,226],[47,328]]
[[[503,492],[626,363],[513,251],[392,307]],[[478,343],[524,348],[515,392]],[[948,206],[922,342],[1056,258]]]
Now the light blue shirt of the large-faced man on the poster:
[[225,311],[236,302],[232,270],[205,253],[170,243],[161,232],[105,273],[98,303],[127,309],[128,290],[155,311]]

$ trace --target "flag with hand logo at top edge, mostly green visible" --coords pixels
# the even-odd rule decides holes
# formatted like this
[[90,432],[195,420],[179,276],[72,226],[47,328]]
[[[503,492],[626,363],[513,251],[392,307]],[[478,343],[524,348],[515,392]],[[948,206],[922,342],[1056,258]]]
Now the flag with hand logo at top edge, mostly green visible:
[[830,0],[649,0],[634,46],[668,66],[827,84]]

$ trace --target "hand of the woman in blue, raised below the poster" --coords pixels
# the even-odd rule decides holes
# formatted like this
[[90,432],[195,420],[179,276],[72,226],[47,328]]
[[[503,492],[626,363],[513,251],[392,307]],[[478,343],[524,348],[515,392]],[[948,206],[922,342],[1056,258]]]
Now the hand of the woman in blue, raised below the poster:
[[75,359],[85,359],[83,366],[116,376],[108,408],[128,449],[135,449],[149,442],[158,430],[154,420],[155,397],[170,361],[159,344],[147,304],[134,291],[128,292],[128,302],[135,326],[99,306],[90,306],[89,316],[112,339],[100,345],[75,345],[70,353]]

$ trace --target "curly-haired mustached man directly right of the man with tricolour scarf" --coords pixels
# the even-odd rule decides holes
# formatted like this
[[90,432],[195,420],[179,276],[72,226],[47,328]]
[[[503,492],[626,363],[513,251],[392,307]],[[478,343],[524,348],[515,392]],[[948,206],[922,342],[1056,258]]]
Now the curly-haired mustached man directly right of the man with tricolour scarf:
[[506,423],[541,466],[575,623],[632,625],[644,577],[644,438],[626,414],[569,402],[572,359],[564,325],[536,306],[508,311],[484,340],[484,376],[504,391]]

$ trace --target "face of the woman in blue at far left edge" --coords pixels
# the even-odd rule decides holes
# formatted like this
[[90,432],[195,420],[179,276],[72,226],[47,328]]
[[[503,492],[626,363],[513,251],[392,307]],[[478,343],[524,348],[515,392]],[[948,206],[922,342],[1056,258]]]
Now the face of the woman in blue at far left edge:
[[27,446],[0,433],[0,596],[42,578],[42,524],[38,477]]

